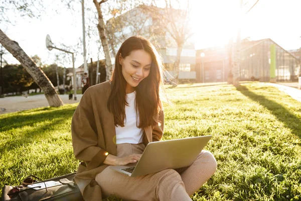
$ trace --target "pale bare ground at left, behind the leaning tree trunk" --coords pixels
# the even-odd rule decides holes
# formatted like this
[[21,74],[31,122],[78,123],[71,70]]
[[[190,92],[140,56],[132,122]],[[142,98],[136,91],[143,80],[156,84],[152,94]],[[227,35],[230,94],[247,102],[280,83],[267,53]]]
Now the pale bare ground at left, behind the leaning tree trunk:
[[[60,95],[64,104],[74,104],[79,102],[82,94],[77,94],[77,100],[69,100],[69,95]],[[44,94],[24,96],[8,96],[0,98],[0,115],[18,111],[30,110],[49,106]]]

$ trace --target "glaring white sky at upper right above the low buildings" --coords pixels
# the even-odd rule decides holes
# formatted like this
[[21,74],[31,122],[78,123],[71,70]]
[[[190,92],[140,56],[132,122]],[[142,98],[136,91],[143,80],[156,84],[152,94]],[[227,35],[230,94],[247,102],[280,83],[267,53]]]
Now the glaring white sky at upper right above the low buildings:
[[[196,49],[227,44],[236,40],[238,0],[196,1],[193,13]],[[249,2],[249,3],[247,3]],[[246,13],[255,0],[243,1]],[[270,38],[286,50],[301,47],[300,0],[259,0],[241,19],[241,39]]]

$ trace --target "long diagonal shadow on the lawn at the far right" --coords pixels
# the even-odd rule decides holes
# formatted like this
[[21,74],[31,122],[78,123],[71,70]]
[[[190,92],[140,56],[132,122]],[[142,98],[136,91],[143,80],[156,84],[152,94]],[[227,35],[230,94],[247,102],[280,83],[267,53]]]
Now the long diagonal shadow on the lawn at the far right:
[[252,91],[250,91],[245,86],[236,87],[238,91],[240,91],[243,95],[251,98],[255,102],[259,103],[269,111],[281,122],[284,123],[286,128],[291,130],[291,133],[301,138],[301,121],[298,117],[292,114],[290,111],[285,109],[282,105],[274,102],[273,100],[267,99],[263,95],[258,95]]

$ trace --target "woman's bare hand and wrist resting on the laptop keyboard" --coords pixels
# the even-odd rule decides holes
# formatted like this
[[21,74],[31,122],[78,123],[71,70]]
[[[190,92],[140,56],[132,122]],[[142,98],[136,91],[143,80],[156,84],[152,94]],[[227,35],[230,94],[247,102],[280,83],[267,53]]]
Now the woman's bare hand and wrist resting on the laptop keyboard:
[[103,161],[104,164],[107,165],[127,165],[128,163],[135,163],[140,160],[142,154],[130,154],[125,157],[117,157],[114,155],[109,154],[105,160]]

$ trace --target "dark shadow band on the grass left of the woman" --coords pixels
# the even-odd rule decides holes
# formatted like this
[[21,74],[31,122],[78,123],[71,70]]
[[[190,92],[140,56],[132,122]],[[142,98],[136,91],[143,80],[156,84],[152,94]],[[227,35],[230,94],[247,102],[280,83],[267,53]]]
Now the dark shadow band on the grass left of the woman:
[[[0,132],[3,132],[5,135],[6,133],[7,135],[12,135],[4,140],[5,142],[0,147],[0,153],[21,146],[27,146],[41,138],[44,140],[51,138],[52,136],[48,135],[48,133],[57,129],[60,125],[65,126],[66,121],[72,117],[75,108],[76,107],[66,109],[55,108],[53,110],[47,109],[40,111],[41,113],[35,113],[37,111],[33,111],[33,114],[26,114],[25,112],[0,119]],[[37,124],[40,123],[42,123],[42,125],[37,126]],[[23,131],[23,127],[29,128]],[[21,129],[21,131],[20,133],[15,133],[17,131],[14,131],[14,129]]]

